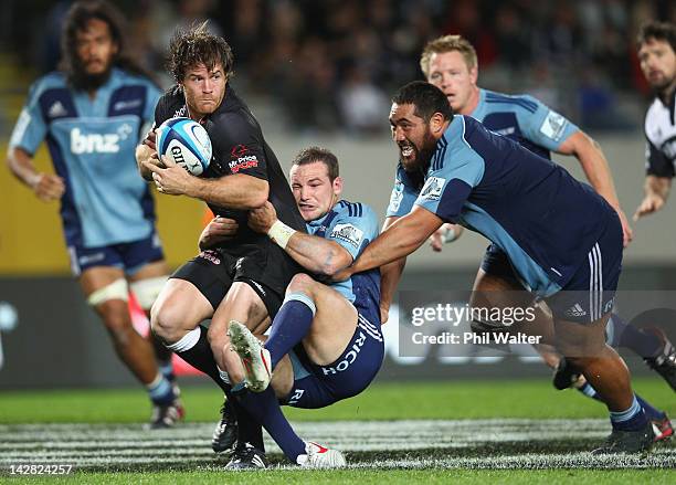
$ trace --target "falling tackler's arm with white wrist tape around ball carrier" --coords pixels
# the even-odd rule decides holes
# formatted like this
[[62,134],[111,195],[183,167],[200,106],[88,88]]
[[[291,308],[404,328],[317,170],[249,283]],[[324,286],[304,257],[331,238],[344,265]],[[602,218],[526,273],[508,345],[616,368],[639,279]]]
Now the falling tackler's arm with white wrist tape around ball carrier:
[[294,231],[277,219],[272,203],[251,211],[249,226],[267,234],[300,266],[313,273],[332,276],[352,264],[351,254],[335,241]]

